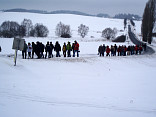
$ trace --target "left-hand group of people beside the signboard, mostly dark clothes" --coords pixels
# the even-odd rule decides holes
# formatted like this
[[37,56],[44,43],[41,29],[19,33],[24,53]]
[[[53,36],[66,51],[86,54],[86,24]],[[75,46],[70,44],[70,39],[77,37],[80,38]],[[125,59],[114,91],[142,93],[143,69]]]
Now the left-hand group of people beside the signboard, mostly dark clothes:
[[[56,57],[61,57],[60,51],[61,51],[61,45],[58,41],[56,41],[55,45],[52,42],[47,42],[46,45],[44,45],[42,42],[37,41],[36,44],[34,42],[26,44],[24,42],[24,48],[22,51],[22,57],[23,59],[27,58],[28,53],[28,59],[34,58],[34,54],[37,55],[37,58],[52,58],[53,57],[53,50],[56,52]],[[73,57],[75,57],[75,53],[77,53],[77,57],[79,57],[79,43],[77,41],[74,41],[74,43],[71,43],[68,41],[67,45],[66,43],[63,44],[62,47],[63,56],[71,57],[71,51],[73,51]],[[45,54],[44,54],[45,52]]]

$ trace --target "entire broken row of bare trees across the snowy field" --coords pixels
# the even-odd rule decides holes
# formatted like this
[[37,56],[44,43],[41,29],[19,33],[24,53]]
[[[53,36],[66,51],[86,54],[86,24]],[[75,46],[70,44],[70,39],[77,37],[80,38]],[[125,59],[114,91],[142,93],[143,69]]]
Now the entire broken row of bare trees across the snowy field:
[[[84,38],[89,32],[89,27],[80,24],[78,26],[78,35]],[[117,29],[106,28],[102,31],[102,37],[106,39],[113,39],[117,33]],[[48,28],[41,24],[32,24],[30,19],[24,19],[21,24],[15,21],[4,21],[0,25],[0,37],[13,38],[13,37],[47,37],[49,34]],[[62,38],[71,38],[72,32],[70,25],[65,25],[59,22],[56,25],[55,34]]]

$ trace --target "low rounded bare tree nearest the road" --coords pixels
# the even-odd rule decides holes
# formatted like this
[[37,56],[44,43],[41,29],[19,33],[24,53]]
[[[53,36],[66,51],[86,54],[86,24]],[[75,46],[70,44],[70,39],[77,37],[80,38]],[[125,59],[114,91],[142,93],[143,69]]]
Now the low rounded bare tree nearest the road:
[[111,28],[106,28],[105,30],[102,31],[102,37],[110,40],[115,37],[115,33]]

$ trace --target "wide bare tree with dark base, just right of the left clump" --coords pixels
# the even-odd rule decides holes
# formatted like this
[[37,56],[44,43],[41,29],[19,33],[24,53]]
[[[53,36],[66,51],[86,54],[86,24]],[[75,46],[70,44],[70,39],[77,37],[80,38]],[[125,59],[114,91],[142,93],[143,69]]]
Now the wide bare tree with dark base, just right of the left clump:
[[58,23],[56,26],[55,34],[58,37],[70,38],[71,30],[69,25],[65,25],[62,22]]

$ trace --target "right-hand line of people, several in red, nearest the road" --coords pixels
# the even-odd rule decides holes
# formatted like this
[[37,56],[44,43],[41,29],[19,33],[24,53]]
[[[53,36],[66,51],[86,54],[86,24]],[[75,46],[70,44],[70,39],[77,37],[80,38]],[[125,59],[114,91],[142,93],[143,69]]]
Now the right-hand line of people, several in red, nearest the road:
[[132,45],[132,46],[117,46],[116,44],[113,46],[105,46],[105,44],[100,45],[98,48],[99,56],[104,56],[106,52],[106,56],[129,56],[129,55],[138,55],[141,54],[142,51],[146,51],[146,44],[144,45]]

